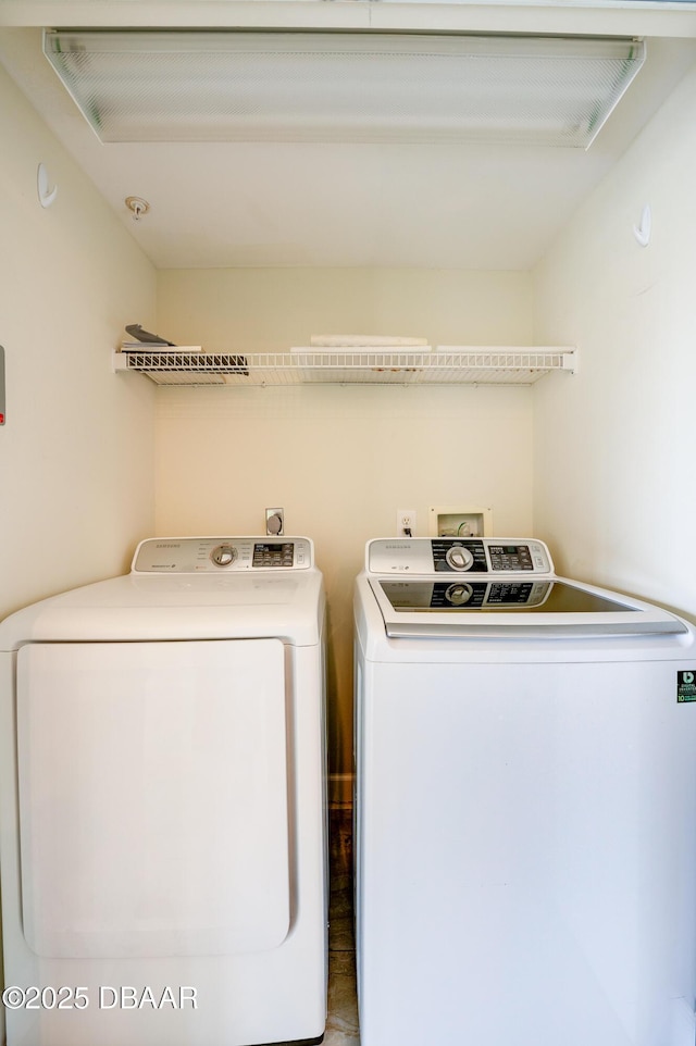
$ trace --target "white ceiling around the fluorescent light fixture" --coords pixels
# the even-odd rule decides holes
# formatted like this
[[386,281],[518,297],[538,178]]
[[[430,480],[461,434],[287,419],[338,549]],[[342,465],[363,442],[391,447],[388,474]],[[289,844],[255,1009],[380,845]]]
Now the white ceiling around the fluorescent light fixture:
[[[44,58],[40,28],[0,28],[0,61],[159,269],[526,270],[693,64],[695,46],[688,35],[648,39],[644,69],[587,152],[485,145],[104,145]],[[125,208],[127,196],[150,203],[137,224]]]

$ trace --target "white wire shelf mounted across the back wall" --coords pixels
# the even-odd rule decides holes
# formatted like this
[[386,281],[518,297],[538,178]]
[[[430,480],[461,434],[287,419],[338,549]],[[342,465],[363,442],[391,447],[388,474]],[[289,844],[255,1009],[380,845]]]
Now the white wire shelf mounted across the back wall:
[[428,352],[316,351],[210,353],[128,350],[114,369],[157,385],[533,385],[554,371],[573,373],[573,348],[447,348]]

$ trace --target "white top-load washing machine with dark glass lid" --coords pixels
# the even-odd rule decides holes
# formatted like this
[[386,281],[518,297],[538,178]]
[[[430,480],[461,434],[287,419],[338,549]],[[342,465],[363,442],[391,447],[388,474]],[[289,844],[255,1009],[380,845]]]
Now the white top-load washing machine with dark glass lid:
[[695,630],[538,540],[371,541],[362,1046],[693,1046]]

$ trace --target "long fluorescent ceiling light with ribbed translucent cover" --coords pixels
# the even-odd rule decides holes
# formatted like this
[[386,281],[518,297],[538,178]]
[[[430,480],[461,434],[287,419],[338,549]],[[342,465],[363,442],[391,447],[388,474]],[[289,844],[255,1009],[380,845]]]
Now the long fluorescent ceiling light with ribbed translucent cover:
[[645,59],[623,38],[79,32],[44,51],[102,141],[587,148]]

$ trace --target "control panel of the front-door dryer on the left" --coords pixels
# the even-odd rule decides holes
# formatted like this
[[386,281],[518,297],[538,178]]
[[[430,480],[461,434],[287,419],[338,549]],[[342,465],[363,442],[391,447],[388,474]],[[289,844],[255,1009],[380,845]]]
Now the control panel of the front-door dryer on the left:
[[214,574],[258,570],[308,570],[314,548],[308,537],[157,537],[140,541],[136,574]]

